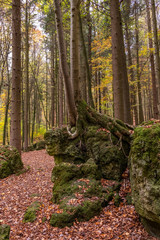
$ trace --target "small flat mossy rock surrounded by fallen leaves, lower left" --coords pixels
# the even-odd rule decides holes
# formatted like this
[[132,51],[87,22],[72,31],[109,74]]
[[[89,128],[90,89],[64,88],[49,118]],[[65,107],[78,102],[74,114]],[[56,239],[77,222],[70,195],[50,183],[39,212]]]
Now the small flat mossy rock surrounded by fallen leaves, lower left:
[[37,218],[36,213],[39,211],[41,204],[39,202],[33,202],[26,210],[23,222],[34,222]]

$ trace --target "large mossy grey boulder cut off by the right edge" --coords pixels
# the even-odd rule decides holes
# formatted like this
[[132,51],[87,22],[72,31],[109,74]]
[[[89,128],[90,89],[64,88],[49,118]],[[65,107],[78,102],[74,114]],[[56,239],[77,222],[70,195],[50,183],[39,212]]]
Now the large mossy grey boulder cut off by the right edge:
[[148,232],[160,238],[160,124],[135,129],[130,152],[132,200]]

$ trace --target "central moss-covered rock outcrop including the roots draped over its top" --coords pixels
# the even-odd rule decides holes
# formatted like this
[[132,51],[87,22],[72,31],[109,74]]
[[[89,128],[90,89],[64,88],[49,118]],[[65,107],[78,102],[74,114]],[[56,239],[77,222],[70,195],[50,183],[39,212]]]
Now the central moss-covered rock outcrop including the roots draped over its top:
[[77,112],[78,134],[73,134],[73,128],[73,135],[62,128],[44,136],[46,149],[55,160],[52,200],[63,209],[51,217],[51,224],[58,227],[99,214],[119,190],[119,184],[103,188],[99,180],[121,179],[130,149],[130,133],[123,122],[96,113],[83,101]]

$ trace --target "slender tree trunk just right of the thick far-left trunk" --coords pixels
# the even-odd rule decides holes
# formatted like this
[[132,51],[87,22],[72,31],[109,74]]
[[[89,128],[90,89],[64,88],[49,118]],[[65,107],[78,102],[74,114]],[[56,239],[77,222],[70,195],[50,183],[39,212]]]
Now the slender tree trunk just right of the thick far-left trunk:
[[28,23],[28,0],[25,9],[25,96],[24,96],[24,150],[28,149],[28,120],[29,120],[29,23]]

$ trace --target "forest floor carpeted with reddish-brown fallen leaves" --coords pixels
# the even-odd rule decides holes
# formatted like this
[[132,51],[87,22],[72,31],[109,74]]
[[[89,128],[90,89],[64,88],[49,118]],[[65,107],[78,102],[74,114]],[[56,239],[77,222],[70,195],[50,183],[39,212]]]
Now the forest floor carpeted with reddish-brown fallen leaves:
[[[144,230],[134,206],[126,204],[125,196],[130,192],[127,172],[122,180],[123,202],[119,207],[110,202],[90,221],[60,229],[49,224],[51,214],[60,211],[58,205],[51,202],[53,157],[40,150],[22,153],[22,160],[25,167],[30,166],[29,171],[0,180],[0,224],[10,225],[10,240],[156,240]],[[33,223],[23,223],[24,213],[34,201],[42,204],[37,219]]]

